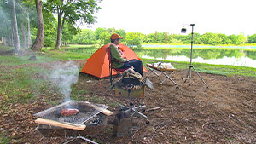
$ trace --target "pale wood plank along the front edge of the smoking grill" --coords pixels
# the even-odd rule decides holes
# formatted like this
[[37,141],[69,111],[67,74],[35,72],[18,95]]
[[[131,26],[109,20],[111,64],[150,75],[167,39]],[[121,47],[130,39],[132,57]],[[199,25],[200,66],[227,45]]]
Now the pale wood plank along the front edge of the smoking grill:
[[38,118],[35,120],[35,123],[38,124],[48,124],[48,125],[53,125],[61,128],[67,128],[67,129],[73,129],[73,130],[84,130],[86,128],[86,125],[84,124],[68,124],[68,123],[61,123],[57,122],[55,120],[51,119],[44,119],[44,118]]

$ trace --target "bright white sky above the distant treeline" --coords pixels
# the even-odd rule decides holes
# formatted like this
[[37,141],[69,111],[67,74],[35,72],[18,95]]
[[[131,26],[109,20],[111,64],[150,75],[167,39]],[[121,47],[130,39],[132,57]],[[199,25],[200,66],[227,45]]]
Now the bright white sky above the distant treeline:
[[[206,32],[256,34],[256,0],[103,0],[95,14],[97,27],[149,34]],[[86,25],[80,28],[88,28]]]

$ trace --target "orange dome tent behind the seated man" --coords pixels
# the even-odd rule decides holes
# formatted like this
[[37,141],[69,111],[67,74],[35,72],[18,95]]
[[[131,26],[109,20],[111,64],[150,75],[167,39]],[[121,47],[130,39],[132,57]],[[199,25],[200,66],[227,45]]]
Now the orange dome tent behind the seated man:
[[[110,43],[102,46],[102,48],[98,49],[93,55],[91,55],[90,58],[87,59],[87,62],[85,63],[81,72],[90,74],[96,78],[109,77],[109,60],[106,53],[106,48],[108,48],[109,44]],[[123,50],[124,57],[126,57],[127,60],[141,60],[139,57],[137,57],[135,52],[125,44],[120,43],[119,47]],[[147,72],[145,66],[143,66],[143,72]],[[112,74],[116,75],[117,73],[112,71]]]

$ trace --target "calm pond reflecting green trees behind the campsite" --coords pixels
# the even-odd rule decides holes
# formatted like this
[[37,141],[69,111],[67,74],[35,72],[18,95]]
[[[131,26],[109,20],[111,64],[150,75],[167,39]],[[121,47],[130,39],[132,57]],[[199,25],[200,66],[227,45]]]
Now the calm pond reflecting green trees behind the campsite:
[[[179,46],[172,49],[147,49],[146,46],[144,48],[141,51],[134,50],[138,57],[156,60],[190,61],[191,49],[189,46]],[[92,55],[97,49],[95,47],[87,47],[64,50]],[[256,68],[256,49],[219,48],[217,46],[194,48],[192,62]]]

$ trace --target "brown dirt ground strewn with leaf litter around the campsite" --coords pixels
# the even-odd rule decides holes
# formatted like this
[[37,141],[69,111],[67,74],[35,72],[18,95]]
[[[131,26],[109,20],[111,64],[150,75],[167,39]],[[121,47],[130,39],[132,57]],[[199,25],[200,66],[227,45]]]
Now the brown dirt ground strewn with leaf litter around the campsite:
[[[76,63],[84,66],[84,60],[76,60]],[[172,75],[177,84],[183,73],[177,70]],[[154,89],[145,88],[144,97],[139,100],[147,106],[143,113],[148,116],[149,124],[143,118],[134,118],[132,135],[116,137],[113,135],[113,119],[119,109],[109,107],[113,115],[107,117],[107,125],[88,127],[81,135],[99,143],[256,143],[256,78],[200,75],[209,89],[195,72],[192,72],[193,84],[182,82],[179,89],[171,81],[160,84],[164,75],[157,77],[151,73],[148,79]],[[89,95],[81,97],[96,96],[103,101],[129,104],[129,100],[118,98],[113,90],[108,90],[109,79],[79,75],[76,86],[90,91]],[[38,100],[26,105],[10,105],[11,111],[0,113],[0,130],[7,131],[6,135],[13,137],[13,143],[61,143],[66,140],[60,135],[43,138],[35,130],[38,124],[34,123],[36,117],[33,114],[53,107],[46,104],[44,97],[38,97]],[[160,108],[147,111],[154,107]],[[24,109],[26,111],[21,111]]]

